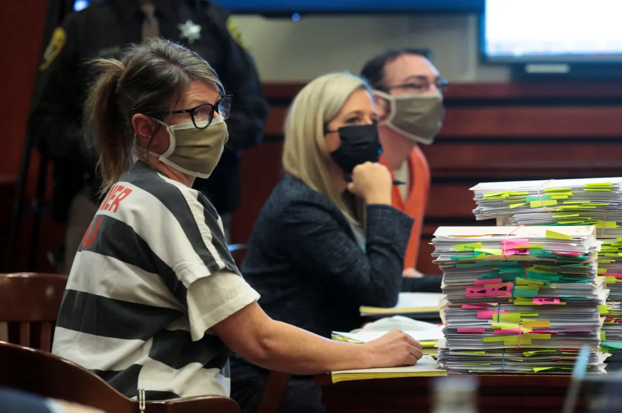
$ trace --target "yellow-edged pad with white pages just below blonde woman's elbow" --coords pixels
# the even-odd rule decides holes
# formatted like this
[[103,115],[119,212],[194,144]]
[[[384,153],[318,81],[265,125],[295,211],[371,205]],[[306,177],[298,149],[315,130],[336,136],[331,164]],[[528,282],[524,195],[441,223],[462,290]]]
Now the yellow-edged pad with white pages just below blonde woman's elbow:
[[442,296],[441,293],[400,293],[395,307],[361,307],[361,316],[411,315],[418,319],[439,318],[439,302]]

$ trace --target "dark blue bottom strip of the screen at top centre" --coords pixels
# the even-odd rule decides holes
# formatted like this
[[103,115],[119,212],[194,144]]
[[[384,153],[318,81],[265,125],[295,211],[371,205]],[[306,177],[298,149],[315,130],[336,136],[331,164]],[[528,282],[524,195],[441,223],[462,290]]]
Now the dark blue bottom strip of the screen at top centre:
[[481,13],[484,0],[215,0],[232,13],[387,14]]

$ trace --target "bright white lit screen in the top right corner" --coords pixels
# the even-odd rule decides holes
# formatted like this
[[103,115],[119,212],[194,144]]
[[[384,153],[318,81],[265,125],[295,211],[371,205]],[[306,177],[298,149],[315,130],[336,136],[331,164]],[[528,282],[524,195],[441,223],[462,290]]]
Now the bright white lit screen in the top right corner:
[[622,63],[622,0],[486,0],[490,63]]

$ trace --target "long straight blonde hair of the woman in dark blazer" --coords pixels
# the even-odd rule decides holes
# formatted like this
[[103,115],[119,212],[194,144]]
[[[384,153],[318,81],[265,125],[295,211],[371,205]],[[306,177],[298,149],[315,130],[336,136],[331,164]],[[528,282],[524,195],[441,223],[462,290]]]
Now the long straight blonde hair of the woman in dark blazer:
[[371,93],[368,83],[351,73],[323,75],[302,88],[285,118],[282,158],[287,173],[328,196],[346,217],[354,220],[359,211],[355,211],[335,188],[328,171],[330,154],[326,148],[325,129],[358,89]]

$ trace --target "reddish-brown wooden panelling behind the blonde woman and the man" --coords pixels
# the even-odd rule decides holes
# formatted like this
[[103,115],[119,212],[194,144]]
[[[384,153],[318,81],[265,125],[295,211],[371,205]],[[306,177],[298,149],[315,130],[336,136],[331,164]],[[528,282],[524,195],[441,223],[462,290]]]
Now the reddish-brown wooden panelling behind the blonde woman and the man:
[[[246,243],[281,179],[287,107],[303,84],[266,84],[271,103],[265,142],[242,157],[241,206],[232,238]],[[429,241],[440,225],[476,222],[480,182],[622,175],[622,83],[457,83],[445,93],[447,116],[433,145],[422,145],[432,173],[418,269],[440,274]]]

